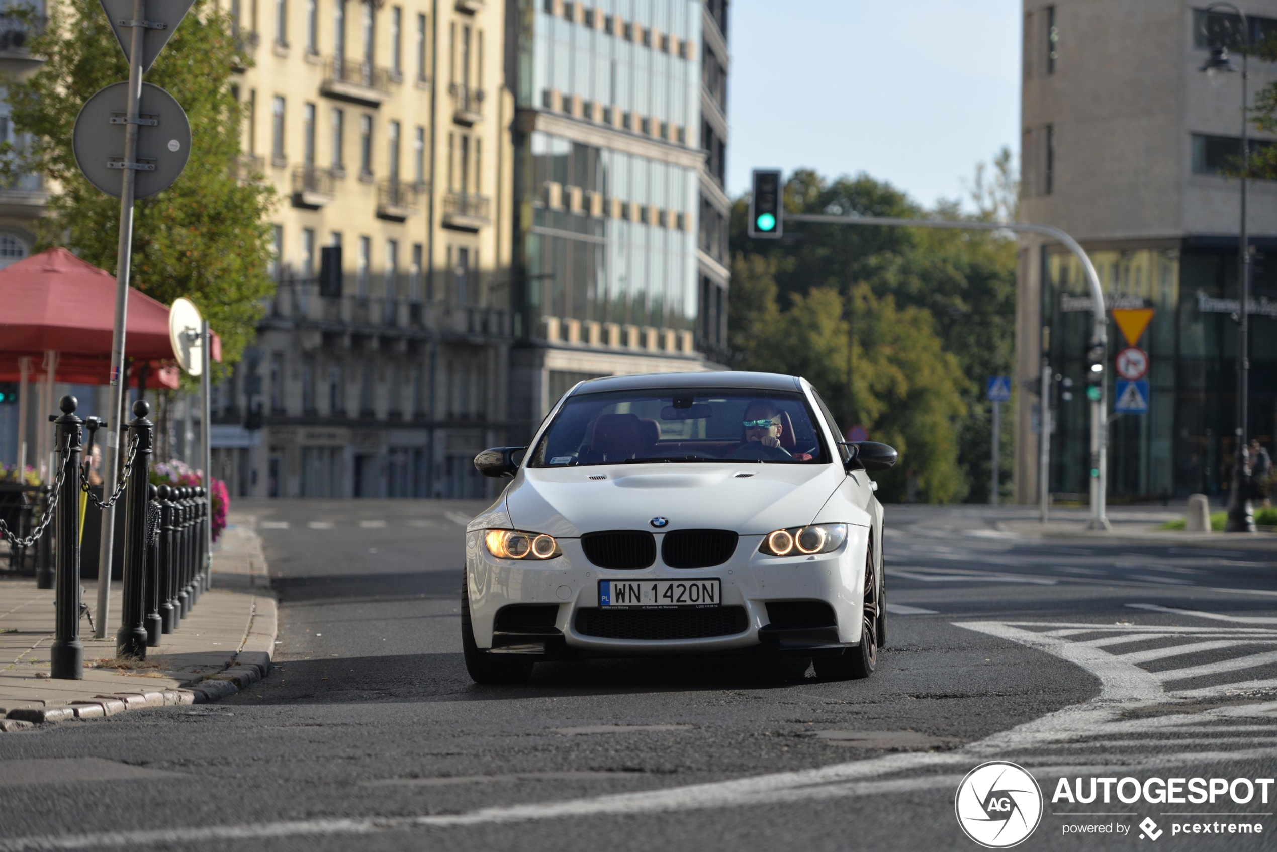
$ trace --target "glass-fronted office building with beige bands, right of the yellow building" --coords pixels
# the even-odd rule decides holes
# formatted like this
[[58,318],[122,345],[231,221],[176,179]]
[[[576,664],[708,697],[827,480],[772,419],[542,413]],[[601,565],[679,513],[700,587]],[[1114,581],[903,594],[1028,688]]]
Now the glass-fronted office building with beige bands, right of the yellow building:
[[582,378],[715,369],[727,3],[520,0],[516,433]]

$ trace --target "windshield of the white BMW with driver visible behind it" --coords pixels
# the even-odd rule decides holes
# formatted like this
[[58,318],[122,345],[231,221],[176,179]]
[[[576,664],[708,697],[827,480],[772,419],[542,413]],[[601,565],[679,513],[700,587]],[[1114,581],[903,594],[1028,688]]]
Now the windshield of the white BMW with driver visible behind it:
[[568,397],[529,468],[640,462],[829,464],[801,393],[659,388]]

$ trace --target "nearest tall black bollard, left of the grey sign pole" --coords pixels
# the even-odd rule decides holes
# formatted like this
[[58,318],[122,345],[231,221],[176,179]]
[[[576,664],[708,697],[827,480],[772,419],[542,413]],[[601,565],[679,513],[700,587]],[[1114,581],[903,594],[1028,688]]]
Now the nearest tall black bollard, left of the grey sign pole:
[[64,396],[57,407],[56,446],[61,453],[63,485],[57,494],[57,590],[54,600],[54,644],[49,649],[50,676],[64,681],[84,680],[84,646],[79,641],[79,456],[80,425],[75,397]]

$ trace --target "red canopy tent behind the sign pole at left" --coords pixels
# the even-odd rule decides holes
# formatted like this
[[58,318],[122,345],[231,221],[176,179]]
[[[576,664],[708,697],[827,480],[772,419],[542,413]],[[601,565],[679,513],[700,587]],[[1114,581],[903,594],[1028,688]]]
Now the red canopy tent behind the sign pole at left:
[[[57,353],[59,382],[107,384],[115,322],[115,277],[64,248],[52,248],[0,270],[0,381],[27,381],[45,373],[46,353]],[[178,387],[169,340],[169,308],[129,287],[125,356],[152,364],[152,384]],[[217,351],[217,347],[213,347]],[[140,370],[133,370],[137,383]]]

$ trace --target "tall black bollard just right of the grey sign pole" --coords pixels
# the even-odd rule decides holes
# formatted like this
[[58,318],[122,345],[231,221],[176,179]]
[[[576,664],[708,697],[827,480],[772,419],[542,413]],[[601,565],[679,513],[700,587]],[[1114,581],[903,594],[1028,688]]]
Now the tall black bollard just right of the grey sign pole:
[[133,404],[126,446],[137,441],[138,448],[124,494],[124,599],[120,630],[115,634],[115,655],[137,659],[147,658],[147,478],[155,441],[155,424],[147,419],[149,413],[146,400]]

